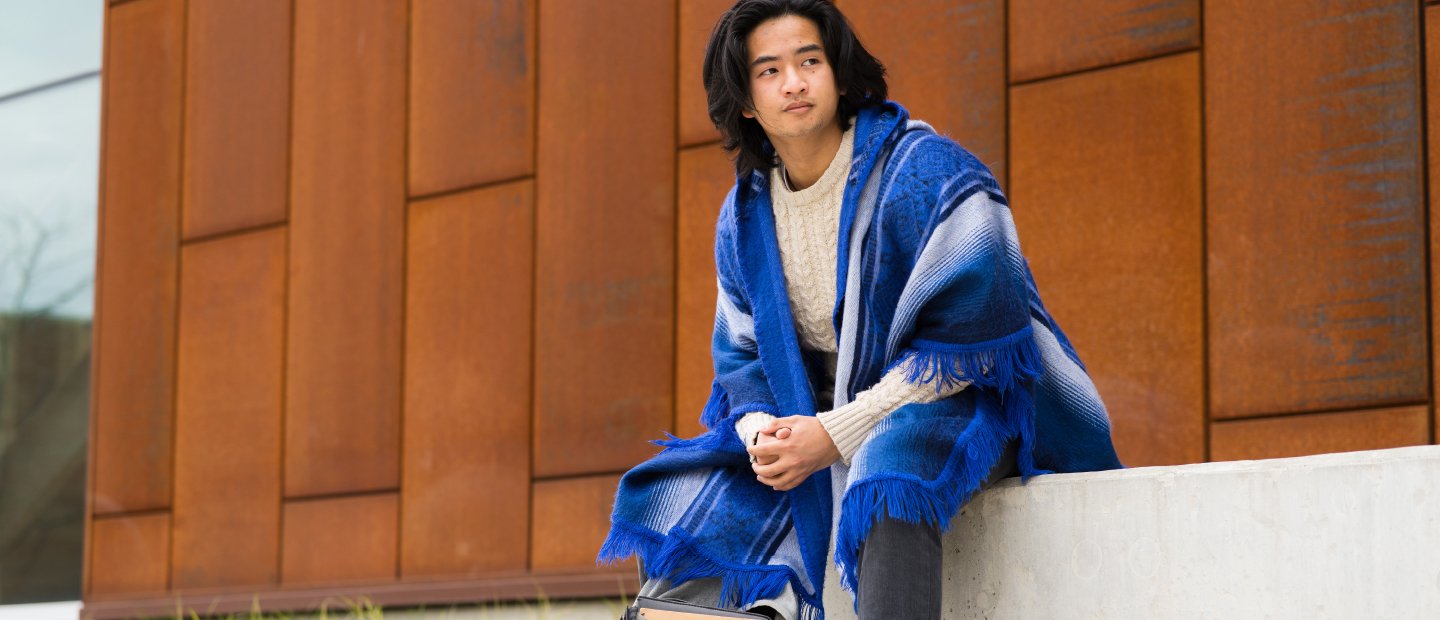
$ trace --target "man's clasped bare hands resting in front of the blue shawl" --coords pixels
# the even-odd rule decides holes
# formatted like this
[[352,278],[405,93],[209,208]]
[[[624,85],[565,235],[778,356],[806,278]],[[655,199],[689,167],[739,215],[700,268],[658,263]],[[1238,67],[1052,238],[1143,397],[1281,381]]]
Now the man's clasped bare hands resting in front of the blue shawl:
[[812,416],[776,419],[760,429],[760,439],[749,452],[756,459],[750,469],[775,491],[791,491],[840,460],[835,442]]

